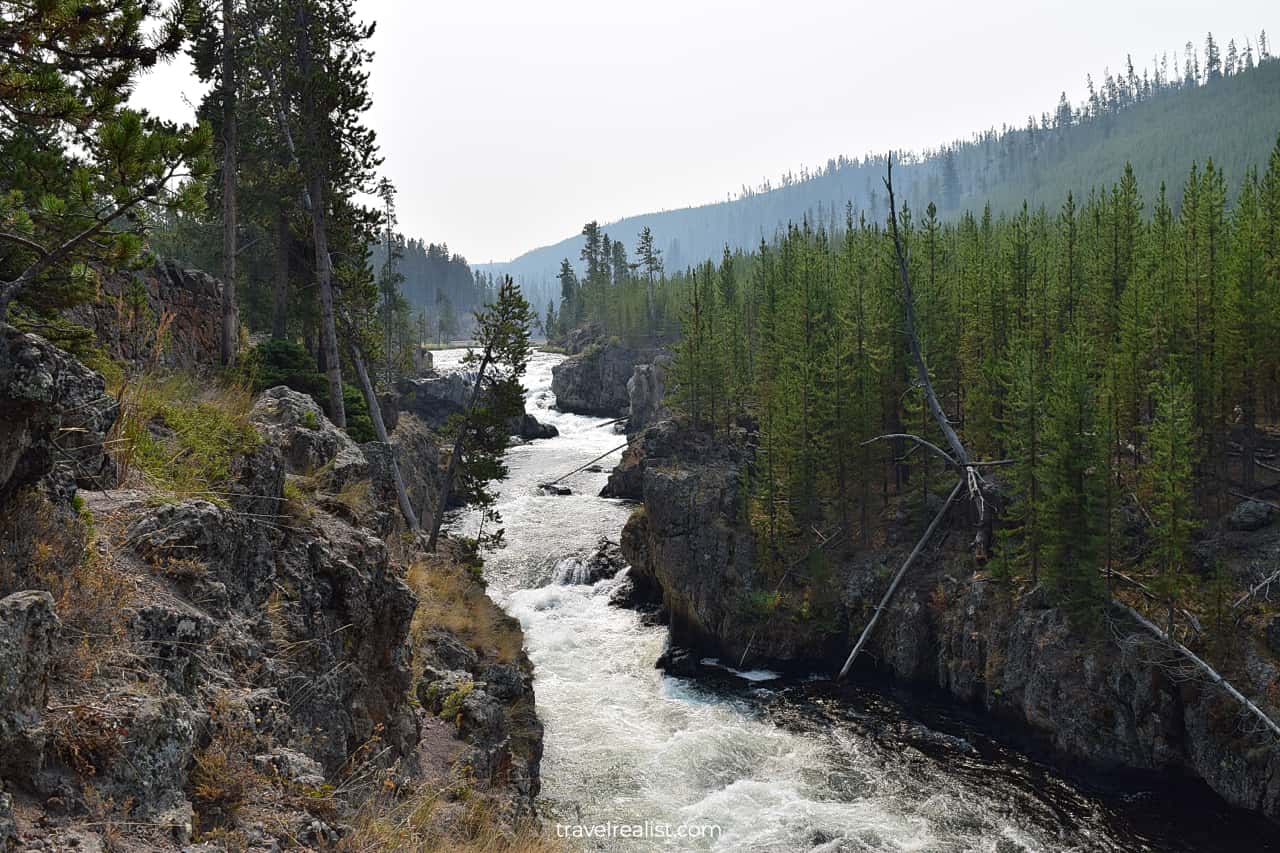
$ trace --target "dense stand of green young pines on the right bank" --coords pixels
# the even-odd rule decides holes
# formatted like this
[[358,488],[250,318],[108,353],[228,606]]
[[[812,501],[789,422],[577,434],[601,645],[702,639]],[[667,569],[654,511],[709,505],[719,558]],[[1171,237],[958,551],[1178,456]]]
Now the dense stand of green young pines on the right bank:
[[[1207,606],[1215,570],[1196,532],[1280,483],[1280,142],[1233,178],[1204,160],[1142,186],[1123,167],[1052,207],[897,211],[946,416],[972,452],[1010,460],[997,575],[1047,581],[1084,611],[1121,567],[1170,612]],[[559,316],[677,339],[672,400],[753,437],[746,511],[778,565],[820,529],[865,543],[888,500],[914,493],[924,512],[951,479],[905,439],[876,441],[945,443],[910,364],[886,222],[850,209],[671,278],[620,284],[603,255],[586,260],[584,280],[566,270]]]

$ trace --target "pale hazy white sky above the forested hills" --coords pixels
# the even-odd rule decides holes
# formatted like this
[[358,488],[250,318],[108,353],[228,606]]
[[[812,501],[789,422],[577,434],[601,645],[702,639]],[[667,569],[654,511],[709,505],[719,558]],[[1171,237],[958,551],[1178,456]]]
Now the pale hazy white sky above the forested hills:
[[[1275,0],[357,0],[403,231],[508,260],[584,222],[718,201],[836,154],[1050,110],[1084,76],[1212,31],[1280,40]],[[189,117],[183,64],[136,99]]]

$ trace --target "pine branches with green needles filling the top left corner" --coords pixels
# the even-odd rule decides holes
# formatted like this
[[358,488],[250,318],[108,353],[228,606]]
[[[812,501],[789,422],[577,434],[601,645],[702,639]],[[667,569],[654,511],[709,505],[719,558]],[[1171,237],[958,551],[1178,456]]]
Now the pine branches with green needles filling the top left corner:
[[17,302],[58,337],[97,269],[138,257],[145,211],[200,209],[207,131],[125,106],[184,24],[182,9],[161,17],[142,0],[0,1],[0,321]]

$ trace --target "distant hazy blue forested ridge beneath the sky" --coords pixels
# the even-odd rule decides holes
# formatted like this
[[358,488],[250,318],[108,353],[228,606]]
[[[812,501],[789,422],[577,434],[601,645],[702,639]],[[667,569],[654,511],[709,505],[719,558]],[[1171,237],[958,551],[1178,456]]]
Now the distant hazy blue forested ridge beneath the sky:
[[[1184,55],[1153,59],[1146,69],[1126,59],[1123,72],[1091,77],[1082,104],[1071,105],[1064,93],[1051,110],[1020,126],[900,158],[899,196],[916,209],[936,204],[943,220],[988,202],[996,214],[1023,201],[1033,209],[1052,206],[1069,191],[1080,199],[1110,183],[1128,161],[1142,192],[1152,196],[1166,183],[1176,210],[1192,160],[1213,158],[1238,178],[1266,158],[1280,132],[1280,64],[1274,60],[1265,35],[1257,49],[1234,41],[1224,49],[1210,36],[1202,53],[1188,44]],[[840,156],[817,170],[744,187],[732,201],[628,216],[604,228],[628,247],[649,228],[667,269],[676,272],[719,257],[726,245],[751,248],[788,222],[838,224],[850,202],[879,219],[883,175],[883,154]],[[579,234],[492,269],[525,282],[541,304],[547,288],[556,289],[561,260],[576,261],[582,243]]]

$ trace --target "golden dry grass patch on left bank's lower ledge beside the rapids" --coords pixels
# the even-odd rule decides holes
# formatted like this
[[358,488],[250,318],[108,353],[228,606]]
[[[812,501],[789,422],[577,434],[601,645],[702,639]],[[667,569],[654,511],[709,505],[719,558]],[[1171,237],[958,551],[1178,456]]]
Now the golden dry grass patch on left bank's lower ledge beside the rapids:
[[412,564],[406,580],[419,597],[410,629],[415,648],[428,630],[443,628],[488,657],[520,660],[520,624],[493,603],[468,566],[433,555]]

